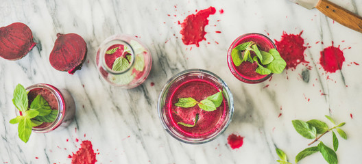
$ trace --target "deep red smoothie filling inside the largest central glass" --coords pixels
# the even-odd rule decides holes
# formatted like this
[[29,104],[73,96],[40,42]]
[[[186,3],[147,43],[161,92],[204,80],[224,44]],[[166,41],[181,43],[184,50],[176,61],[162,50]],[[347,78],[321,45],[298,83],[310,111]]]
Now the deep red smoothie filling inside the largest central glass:
[[[198,107],[198,105],[190,108],[175,106],[178,98],[192,97],[197,100],[197,102],[200,102],[217,92],[219,92],[219,89],[208,81],[195,79],[182,83],[173,92],[169,100],[169,115],[171,116],[173,126],[191,137],[202,137],[217,131],[221,126],[221,119],[224,119],[226,115],[225,101],[222,102],[220,107],[215,111],[204,111]],[[199,120],[192,128],[177,124],[178,122],[193,124],[197,113],[199,114]]]

